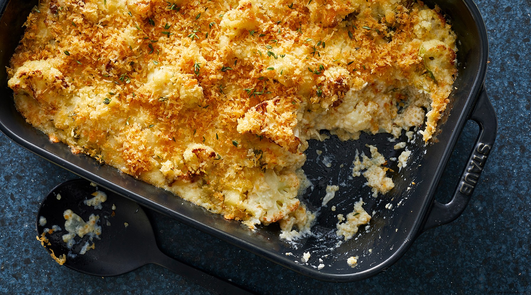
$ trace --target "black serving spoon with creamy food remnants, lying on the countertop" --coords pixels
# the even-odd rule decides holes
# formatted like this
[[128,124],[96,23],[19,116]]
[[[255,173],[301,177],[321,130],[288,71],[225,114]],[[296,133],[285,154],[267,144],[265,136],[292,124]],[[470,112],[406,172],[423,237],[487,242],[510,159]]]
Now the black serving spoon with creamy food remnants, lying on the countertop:
[[[107,195],[107,201],[101,203],[102,209],[95,209],[84,203],[85,199],[93,197],[91,194],[96,190]],[[63,212],[67,209],[78,214],[84,221],[89,220],[90,214],[99,215],[97,224],[101,226],[101,235],[98,236],[100,239],[93,238],[90,241],[88,235],[83,238],[77,236],[76,244],[68,249],[63,241],[63,235],[68,233],[65,230],[63,217]],[[46,219],[46,224],[43,224],[41,216]],[[44,237],[48,241],[44,242],[44,246],[50,254],[53,250],[56,257],[66,255],[64,265],[73,270],[96,276],[115,276],[155,263],[218,294],[252,294],[232,282],[219,279],[162,254],[157,246],[151,223],[142,207],[125,197],[93,186],[90,181],[84,179],[66,181],[46,196],[37,215],[39,237],[45,228],[52,229],[53,225],[58,225],[61,230],[46,232]],[[80,250],[87,241],[89,245],[93,243],[95,248],[80,255]]]

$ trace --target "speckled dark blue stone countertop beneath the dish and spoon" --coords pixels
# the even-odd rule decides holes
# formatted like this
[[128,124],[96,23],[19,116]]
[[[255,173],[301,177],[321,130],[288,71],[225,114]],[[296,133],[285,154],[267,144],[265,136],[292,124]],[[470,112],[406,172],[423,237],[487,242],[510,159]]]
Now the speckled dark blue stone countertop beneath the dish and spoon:
[[[152,213],[162,249],[266,294],[531,292],[531,32],[529,0],[476,1],[489,34],[486,89],[499,119],[498,138],[472,199],[454,222],[426,231],[387,271],[353,283],[310,279],[227,242]],[[439,186],[444,199],[478,133],[467,123]],[[59,266],[35,239],[42,198],[71,172],[0,135],[0,294],[210,294],[158,265],[117,277]],[[183,241],[180,237],[190,237]]]

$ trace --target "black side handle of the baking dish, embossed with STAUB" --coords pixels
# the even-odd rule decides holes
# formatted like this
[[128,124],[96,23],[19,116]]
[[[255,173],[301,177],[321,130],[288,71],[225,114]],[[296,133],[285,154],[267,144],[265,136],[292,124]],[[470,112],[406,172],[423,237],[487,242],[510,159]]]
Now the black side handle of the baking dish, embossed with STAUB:
[[479,135],[474,149],[470,152],[467,165],[461,172],[451,201],[448,204],[441,204],[433,200],[422,231],[456,220],[465,211],[470,196],[478,184],[498,131],[498,119],[484,87],[479,93],[479,99],[469,120],[474,120],[479,125]]

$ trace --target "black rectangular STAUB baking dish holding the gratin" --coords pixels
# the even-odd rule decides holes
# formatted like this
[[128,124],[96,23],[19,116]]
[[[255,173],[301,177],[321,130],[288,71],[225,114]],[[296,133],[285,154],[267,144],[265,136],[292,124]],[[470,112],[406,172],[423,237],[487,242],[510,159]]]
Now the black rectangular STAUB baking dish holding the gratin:
[[[3,13],[0,21],[2,69],[8,65],[23,34],[25,18],[36,3],[30,0],[0,0],[0,12]],[[397,152],[392,149],[395,143],[387,141],[389,135],[364,134],[354,142],[340,142],[336,137],[324,142],[311,142],[304,170],[313,180],[314,189],[308,189],[303,199],[310,207],[318,208],[327,185],[339,184],[340,190],[329,202],[328,208],[320,210],[312,229],[314,235],[296,243],[280,239],[275,225],[253,232],[237,221],[225,220],[221,215],[212,214],[117,169],[100,166],[88,156],[74,155],[62,143],[50,143],[45,134],[27,124],[15,110],[13,93],[6,86],[4,70],[0,71],[0,130],[25,149],[83,178],[294,271],[332,282],[366,279],[395,263],[424,230],[451,222],[464,211],[485,167],[498,127],[483,85],[488,45],[483,19],[476,5],[472,0],[429,1],[426,4],[440,6],[459,40],[456,89],[451,93],[451,110],[449,108],[444,114],[437,140],[427,146],[420,138],[408,143],[408,149],[413,151],[408,166],[400,171],[399,176],[394,164],[395,188],[378,198],[370,196],[370,190],[363,186],[361,177],[349,177],[352,174],[350,167],[355,149],[368,153],[366,143],[376,144],[386,157],[397,157]],[[459,134],[469,119],[478,123],[479,135],[451,201],[441,204],[433,196]],[[401,139],[404,138],[402,135]],[[324,152],[318,155],[316,150]],[[323,161],[324,155],[329,156],[326,161]],[[324,162],[330,162],[332,166],[327,167]],[[352,212],[352,204],[359,197],[366,202],[365,210],[371,215],[374,212],[370,226],[361,228],[349,241],[338,244],[339,239],[334,233],[336,214]],[[392,208],[387,209],[387,204],[392,204]],[[336,211],[330,210],[332,205],[337,207]],[[306,251],[310,251],[311,258],[308,264],[303,264],[301,257]],[[350,256],[359,257],[355,267],[347,264]],[[319,258],[325,265],[321,269],[318,269]]]

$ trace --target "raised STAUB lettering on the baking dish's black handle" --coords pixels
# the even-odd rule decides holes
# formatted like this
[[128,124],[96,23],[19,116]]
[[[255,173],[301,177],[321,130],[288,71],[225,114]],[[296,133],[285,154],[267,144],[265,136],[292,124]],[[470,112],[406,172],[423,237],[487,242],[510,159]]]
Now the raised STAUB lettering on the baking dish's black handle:
[[474,191],[474,187],[477,184],[479,175],[483,171],[485,161],[489,157],[491,146],[484,143],[478,143],[475,149],[472,151],[472,158],[468,163],[463,177],[461,177],[461,188],[459,192],[465,195],[470,195]]

